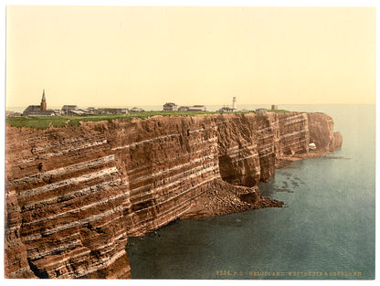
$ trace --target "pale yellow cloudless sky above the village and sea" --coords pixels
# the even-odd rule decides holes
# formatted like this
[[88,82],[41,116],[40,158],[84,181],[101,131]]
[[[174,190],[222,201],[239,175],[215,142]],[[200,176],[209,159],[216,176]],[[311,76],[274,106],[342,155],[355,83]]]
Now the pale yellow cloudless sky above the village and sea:
[[6,7],[6,107],[375,104],[374,7]]

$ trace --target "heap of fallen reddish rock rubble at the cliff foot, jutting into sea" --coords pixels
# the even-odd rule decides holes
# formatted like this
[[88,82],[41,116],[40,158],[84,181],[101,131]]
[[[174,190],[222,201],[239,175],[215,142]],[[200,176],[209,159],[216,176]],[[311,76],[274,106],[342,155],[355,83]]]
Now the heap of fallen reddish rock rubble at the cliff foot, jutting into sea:
[[198,196],[192,207],[180,218],[216,217],[251,209],[282,206],[283,202],[260,196],[258,186],[231,185],[216,179],[210,189]]

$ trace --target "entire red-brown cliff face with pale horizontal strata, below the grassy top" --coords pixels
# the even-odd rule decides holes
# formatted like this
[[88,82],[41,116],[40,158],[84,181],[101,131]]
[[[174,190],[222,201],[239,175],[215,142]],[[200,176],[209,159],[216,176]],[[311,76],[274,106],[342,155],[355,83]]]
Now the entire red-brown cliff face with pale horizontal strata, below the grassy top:
[[5,140],[7,278],[129,278],[129,236],[185,216],[222,180],[254,186],[281,160],[342,145],[330,117],[296,112],[6,126]]

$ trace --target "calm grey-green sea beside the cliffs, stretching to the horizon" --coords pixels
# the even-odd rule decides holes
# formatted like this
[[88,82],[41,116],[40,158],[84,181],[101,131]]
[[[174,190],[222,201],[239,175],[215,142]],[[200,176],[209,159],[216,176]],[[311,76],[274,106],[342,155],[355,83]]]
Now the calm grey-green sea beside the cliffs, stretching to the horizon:
[[285,207],[176,220],[129,238],[132,278],[375,279],[375,105],[280,108],[332,116],[342,150],[259,185]]

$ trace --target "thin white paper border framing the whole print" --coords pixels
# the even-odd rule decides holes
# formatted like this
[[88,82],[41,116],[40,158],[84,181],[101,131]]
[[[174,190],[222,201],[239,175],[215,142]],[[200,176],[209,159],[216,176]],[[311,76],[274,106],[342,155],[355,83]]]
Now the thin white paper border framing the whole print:
[[[138,6],[143,6],[143,5],[160,5],[160,6],[372,6],[372,7],[379,7],[379,1],[378,0],[321,0],[321,1],[315,1],[315,0],[284,0],[284,1],[275,1],[275,0],[268,0],[268,1],[263,1],[263,0],[236,0],[236,1],[216,1],[216,0],[194,0],[194,1],[184,1],[184,0],[159,0],[159,1],[149,1],[149,0],[68,0],[68,1],[62,1],[62,0],[39,0],[39,1],[26,1],[26,0],[5,0],[1,4],[1,13],[0,13],[0,37],[1,37],[1,45],[0,45],[0,55],[1,55],[1,61],[2,61],[2,67],[0,69],[0,75],[3,80],[0,80],[0,90],[1,90],[1,95],[3,99],[3,108],[0,108],[0,118],[1,118],[1,130],[0,130],[0,136],[1,136],[1,145],[2,148],[0,149],[0,156],[2,158],[5,158],[5,6],[6,5],[138,5]],[[378,21],[378,11],[376,11],[376,44],[377,44],[377,38],[379,37],[379,21]],[[376,46],[376,51],[378,51],[378,46]],[[376,53],[377,54],[377,53]],[[379,73],[378,73],[378,64],[379,64],[379,59],[378,59],[378,54],[376,57],[376,82],[378,82],[379,79]],[[376,89],[376,99],[378,95],[378,90]],[[377,111],[377,109],[376,109]],[[380,126],[380,121],[378,120],[378,117],[376,117],[376,141],[380,142],[380,135],[379,135],[379,130],[378,126]],[[378,152],[376,152],[376,166],[378,166],[380,160],[380,155]],[[4,185],[5,185],[5,161],[3,161],[3,164],[0,164],[0,185],[2,186],[1,190],[4,191]],[[379,178],[379,172],[378,168],[376,168],[376,181]],[[376,184],[376,193],[378,193],[378,187]],[[2,206],[2,211],[1,217],[0,217],[0,228],[4,229],[4,192],[1,196],[1,206]],[[379,216],[379,198],[376,196],[376,259],[379,258],[379,247],[378,247],[378,219]],[[1,231],[2,233],[2,238],[0,242],[0,255],[2,258],[2,263],[0,267],[0,278],[1,282],[3,285],[8,285],[8,284],[15,284],[15,283],[27,283],[27,284],[40,284],[40,283],[47,283],[47,284],[67,284],[68,280],[64,281],[58,281],[58,280],[45,280],[45,281],[37,281],[37,280],[5,280],[4,279],[4,231]],[[378,275],[380,275],[379,272],[379,264],[380,261],[376,261],[375,263],[375,275],[376,275],[376,280],[375,281],[280,281],[281,284],[287,284],[287,285],[304,285],[306,284],[320,284],[321,282],[323,284],[357,284],[357,283],[365,283],[365,284],[375,284],[375,282],[378,280]],[[72,281],[70,280],[69,283],[83,283],[84,281]],[[86,281],[87,282],[87,281]],[[99,280],[99,281],[89,281],[90,283],[112,283],[112,284],[118,284],[118,285],[125,285],[126,283],[128,284],[141,284],[141,283],[154,283],[154,285],[177,285],[178,283],[181,284],[186,284],[186,285],[195,285],[196,284],[206,284],[207,285],[226,285],[230,283],[238,283],[238,284],[247,284],[247,283],[259,283],[260,285],[262,284],[273,284],[279,281],[175,281],[175,280],[169,280],[169,281],[154,281],[154,280],[132,280],[132,281],[104,281],[104,280]]]

